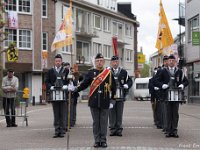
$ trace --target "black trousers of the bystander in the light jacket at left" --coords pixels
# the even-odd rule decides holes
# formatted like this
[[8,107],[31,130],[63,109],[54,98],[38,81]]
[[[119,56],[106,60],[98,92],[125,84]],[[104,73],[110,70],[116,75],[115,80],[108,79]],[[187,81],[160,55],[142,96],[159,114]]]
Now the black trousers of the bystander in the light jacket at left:
[[7,125],[14,125],[15,124],[15,98],[3,97],[3,109],[4,109]]

